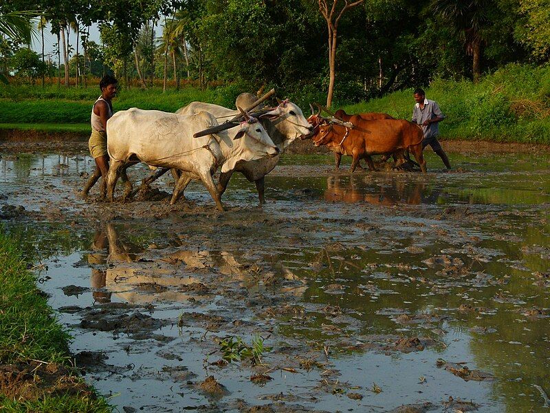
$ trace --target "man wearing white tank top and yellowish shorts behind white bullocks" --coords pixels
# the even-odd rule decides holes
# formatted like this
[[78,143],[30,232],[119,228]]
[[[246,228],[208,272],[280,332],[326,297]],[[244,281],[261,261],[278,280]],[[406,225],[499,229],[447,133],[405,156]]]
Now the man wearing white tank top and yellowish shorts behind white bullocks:
[[88,178],[86,185],[82,191],[82,195],[88,195],[91,187],[94,186],[100,176],[103,177],[101,182],[100,193],[105,195],[105,178],[109,171],[109,155],[107,154],[107,120],[113,116],[113,105],[111,99],[116,96],[118,81],[113,76],[103,76],[99,87],[101,96],[94,103],[91,109],[91,136],[88,140],[88,147],[91,156],[96,160],[96,171]]

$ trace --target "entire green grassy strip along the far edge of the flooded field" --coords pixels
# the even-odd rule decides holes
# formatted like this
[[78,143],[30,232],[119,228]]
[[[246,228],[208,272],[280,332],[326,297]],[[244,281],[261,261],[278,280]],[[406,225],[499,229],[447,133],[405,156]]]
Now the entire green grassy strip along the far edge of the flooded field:
[[[159,88],[134,88],[120,91],[114,107],[115,110],[140,107],[175,112],[194,100],[233,107],[234,98],[240,92],[243,89],[238,85],[205,90],[188,85],[180,91],[171,89],[166,93]],[[1,87],[0,123],[39,123],[40,128],[60,123],[87,124],[91,105],[98,95],[97,87]],[[507,65],[485,76],[477,85],[471,81],[434,81],[426,88],[426,95],[437,100],[446,116],[441,123],[443,139],[550,144],[550,65]],[[304,89],[285,97],[309,113],[310,100],[322,103],[323,97],[308,96],[316,94]],[[344,107],[349,113],[386,112],[408,119],[413,103],[412,89],[408,89],[368,102],[335,103],[333,109]]]

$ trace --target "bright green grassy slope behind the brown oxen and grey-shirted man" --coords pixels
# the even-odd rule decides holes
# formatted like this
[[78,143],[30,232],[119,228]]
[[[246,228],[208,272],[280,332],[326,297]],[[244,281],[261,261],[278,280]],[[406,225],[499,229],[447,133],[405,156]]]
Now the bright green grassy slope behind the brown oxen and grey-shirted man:
[[[550,144],[550,65],[508,65],[477,85],[440,80],[425,90],[445,115],[440,126],[443,139]],[[413,104],[408,89],[344,109],[410,119]]]

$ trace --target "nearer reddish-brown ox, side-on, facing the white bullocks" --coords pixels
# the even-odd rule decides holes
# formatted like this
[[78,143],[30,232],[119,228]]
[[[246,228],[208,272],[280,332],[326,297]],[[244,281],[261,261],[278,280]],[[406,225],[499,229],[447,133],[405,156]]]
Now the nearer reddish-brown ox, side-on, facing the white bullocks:
[[374,169],[371,155],[386,155],[398,152],[412,152],[426,172],[426,161],[422,156],[422,129],[408,120],[378,119],[364,120],[358,115],[351,116],[349,122],[353,129],[336,123],[320,124],[313,137],[315,146],[326,145],[329,149],[337,147],[343,155],[352,156],[350,171],[355,171],[359,161],[365,159],[369,169]]

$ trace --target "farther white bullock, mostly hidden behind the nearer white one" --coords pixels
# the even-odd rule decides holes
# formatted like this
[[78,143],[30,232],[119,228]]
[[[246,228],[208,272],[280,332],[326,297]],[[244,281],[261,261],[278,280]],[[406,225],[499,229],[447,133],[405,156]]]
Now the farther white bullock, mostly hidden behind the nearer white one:
[[[241,98],[245,96],[239,95]],[[252,97],[254,97],[252,95]],[[242,100],[243,105],[249,106],[254,100]],[[192,102],[186,107],[177,110],[177,114],[189,115],[201,111],[210,112],[216,116],[219,123],[239,114],[238,111],[227,109],[223,106],[212,105],[210,103]],[[275,145],[281,153],[299,136],[308,136],[313,133],[314,127],[311,126],[297,105],[288,100],[283,100],[279,105],[260,116],[260,121],[270,135]],[[225,191],[228,182],[234,171],[243,173],[250,182],[256,183],[260,204],[265,203],[265,176],[276,167],[279,156],[273,158],[261,158],[259,160],[241,161],[230,171],[222,171],[219,177],[218,190],[220,195]]]

